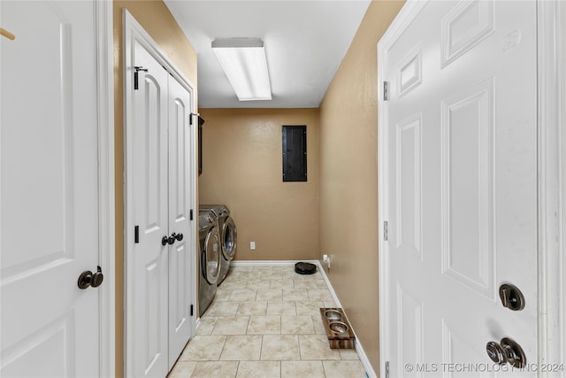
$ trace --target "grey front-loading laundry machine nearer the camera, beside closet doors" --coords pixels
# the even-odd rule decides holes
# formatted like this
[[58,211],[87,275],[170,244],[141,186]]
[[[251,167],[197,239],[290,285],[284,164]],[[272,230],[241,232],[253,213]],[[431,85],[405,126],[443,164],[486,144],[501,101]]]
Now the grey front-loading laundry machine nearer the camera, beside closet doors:
[[220,274],[220,259],[222,247],[220,246],[220,233],[218,232],[218,219],[214,212],[199,212],[198,239],[200,253],[198,254],[199,280],[198,280],[198,315],[209,308],[212,299],[216,296],[218,276]]

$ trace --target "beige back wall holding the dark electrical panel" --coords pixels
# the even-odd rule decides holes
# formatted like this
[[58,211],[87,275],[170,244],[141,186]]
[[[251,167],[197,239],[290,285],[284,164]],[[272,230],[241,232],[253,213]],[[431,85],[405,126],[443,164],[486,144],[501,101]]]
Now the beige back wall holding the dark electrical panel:
[[[205,120],[200,203],[230,208],[238,228],[235,259],[317,259],[317,109],[199,112]],[[282,125],[307,125],[307,182],[282,181]]]

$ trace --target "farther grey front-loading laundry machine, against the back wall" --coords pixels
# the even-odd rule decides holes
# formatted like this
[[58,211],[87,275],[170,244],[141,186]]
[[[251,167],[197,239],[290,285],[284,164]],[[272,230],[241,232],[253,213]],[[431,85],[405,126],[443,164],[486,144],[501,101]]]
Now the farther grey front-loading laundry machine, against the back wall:
[[236,254],[236,242],[238,230],[230,216],[230,210],[226,204],[201,204],[201,211],[214,212],[218,218],[218,231],[220,232],[220,244],[222,245],[222,258],[220,258],[220,274],[218,285],[224,281],[230,270],[230,261]]

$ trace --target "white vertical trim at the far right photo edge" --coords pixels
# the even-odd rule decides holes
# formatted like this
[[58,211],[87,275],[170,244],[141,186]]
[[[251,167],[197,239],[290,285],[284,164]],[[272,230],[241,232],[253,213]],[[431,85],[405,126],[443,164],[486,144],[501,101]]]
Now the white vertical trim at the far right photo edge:
[[[566,4],[539,1],[539,366],[566,364]],[[561,142],[562,141],[562,142]],[[562,194],[561,194],[562,193]],[[561,197],[562,196],[562,197]],[[539,376],[549,376],[544,372]],[[555,375],[553,375],[555,376]],[[562,377],[566,372],[562,371]]]

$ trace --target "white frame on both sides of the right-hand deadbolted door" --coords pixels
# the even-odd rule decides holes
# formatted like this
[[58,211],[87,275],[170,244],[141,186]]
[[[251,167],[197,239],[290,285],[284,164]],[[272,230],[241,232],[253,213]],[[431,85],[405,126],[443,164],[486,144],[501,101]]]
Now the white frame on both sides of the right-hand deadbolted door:
[[[378,42],[378,62],[417,18],[428,1],[408,1]],[[538,361],[566,366],[566,4],[537,1],[538,39]],[[385,64],[378,65],[379,227],[389,213],[387,110],[383,97]],[[380,376],[390,359],[388,244],[379,238]],[[486,360],[487,362],[487,360]],[[553,373],[555,374],[555,373]],[[548,373],[539,373],[548,376]],[[557,375],[553,375],[557,376]],[[566,376],[562,371],[561,377]]]

